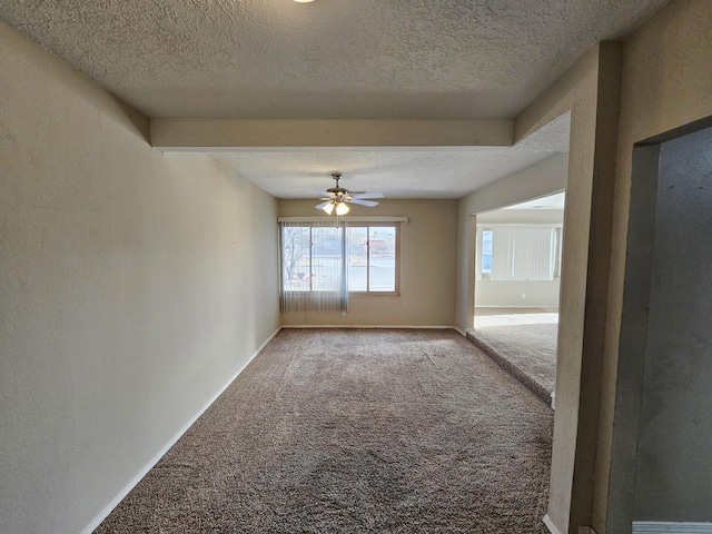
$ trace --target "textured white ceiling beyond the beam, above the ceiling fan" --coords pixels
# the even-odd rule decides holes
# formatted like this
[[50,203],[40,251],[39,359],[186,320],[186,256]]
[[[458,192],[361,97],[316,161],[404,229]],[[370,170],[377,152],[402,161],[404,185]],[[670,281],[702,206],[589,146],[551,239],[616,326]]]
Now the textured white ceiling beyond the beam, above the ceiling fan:
[[277,198],[316,198],[343,172],[352,190],[387,198],[461,198],[555,154],[568,151],[570,113],[513,147],[457,150],[328,149],[214,152],[211,156]]

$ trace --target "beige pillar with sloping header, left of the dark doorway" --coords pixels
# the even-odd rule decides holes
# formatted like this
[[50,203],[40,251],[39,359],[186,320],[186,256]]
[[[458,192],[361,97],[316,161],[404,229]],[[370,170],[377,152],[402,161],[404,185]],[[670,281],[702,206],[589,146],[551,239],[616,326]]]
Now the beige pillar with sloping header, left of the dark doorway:
[[515,121],[518,137],[572,112],[547,512],[570,533],[592,521],[619,91],[620,46],[602,43]]

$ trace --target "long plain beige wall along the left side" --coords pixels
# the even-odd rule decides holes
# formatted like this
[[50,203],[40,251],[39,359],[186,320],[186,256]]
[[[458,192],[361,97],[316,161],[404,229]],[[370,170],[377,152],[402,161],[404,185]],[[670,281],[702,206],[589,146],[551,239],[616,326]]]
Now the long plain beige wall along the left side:
[[0,22],[0,517],[77,533],[278,327],[276,201]]

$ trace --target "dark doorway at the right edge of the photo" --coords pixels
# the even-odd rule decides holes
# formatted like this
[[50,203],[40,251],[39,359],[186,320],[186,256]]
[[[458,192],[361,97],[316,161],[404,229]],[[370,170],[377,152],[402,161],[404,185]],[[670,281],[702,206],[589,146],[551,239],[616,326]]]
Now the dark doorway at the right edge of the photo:
[[709,126],[633,152],[610,532],[712,532]]

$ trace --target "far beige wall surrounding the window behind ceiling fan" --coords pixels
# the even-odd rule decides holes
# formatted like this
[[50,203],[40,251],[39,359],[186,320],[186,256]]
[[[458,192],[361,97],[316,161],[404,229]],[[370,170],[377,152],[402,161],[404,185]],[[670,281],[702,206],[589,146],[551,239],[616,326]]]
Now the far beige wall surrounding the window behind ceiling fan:
[[[279,200],[281,217],[319,217],[315,200]],[[399,296],[352,296],[340,313],[284,313],[283,325],[453,326],[457,200],[384,199],[348,215],[402,216]]]

